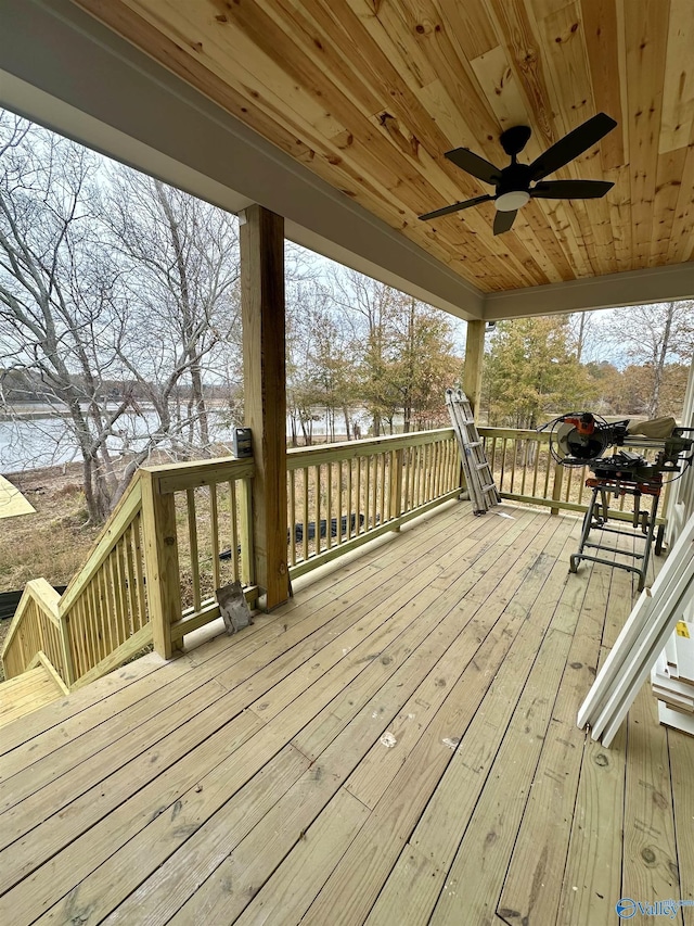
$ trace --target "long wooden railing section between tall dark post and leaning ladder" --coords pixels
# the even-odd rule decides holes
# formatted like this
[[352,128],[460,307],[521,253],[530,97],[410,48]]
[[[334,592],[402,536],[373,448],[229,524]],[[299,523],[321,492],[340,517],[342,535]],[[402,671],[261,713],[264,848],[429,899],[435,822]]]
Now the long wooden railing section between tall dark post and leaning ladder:
[[348,553],[461,492],[452,428],[287,452],[292,576]]

